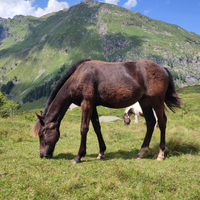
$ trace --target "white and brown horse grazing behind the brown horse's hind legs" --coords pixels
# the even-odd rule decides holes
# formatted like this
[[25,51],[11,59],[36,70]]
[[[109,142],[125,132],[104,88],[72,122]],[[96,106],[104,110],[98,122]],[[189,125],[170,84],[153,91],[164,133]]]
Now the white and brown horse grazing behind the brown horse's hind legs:
[[[154,115],[154,117],[156,119],[156,124],[157,124],[158,123],[158,118],[156,116],[156,113],[155,113],[154,109],[152,109],[152,110],[153,110],[153,115]],[[140,106],[138,101],[136,103],[134,103],[133,105],[131,105],[131,106],[129,106],[129,107],[127,107],[125,109],[124,115],[123,115],[124,125],[125,126],[130,124],[130,122],[131,122],[130,116],[132,114],[135,116],[135,123],[138,123],[138,117],[139,116],[144,117],[144,114],[142,112],[142,108],[141,108],[141,106]],[[155,127],[156,127],[156,125],[155,125]]]

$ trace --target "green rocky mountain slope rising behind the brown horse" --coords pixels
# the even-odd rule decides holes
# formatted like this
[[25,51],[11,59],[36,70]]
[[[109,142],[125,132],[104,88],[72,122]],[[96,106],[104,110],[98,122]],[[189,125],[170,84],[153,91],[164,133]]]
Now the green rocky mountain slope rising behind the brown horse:
[[125,8],[84,1],[41,18],[0,19],[0,79],[14,100],[62,74],[82,58],[150,59],[179,85],[200,80],[200,36]]

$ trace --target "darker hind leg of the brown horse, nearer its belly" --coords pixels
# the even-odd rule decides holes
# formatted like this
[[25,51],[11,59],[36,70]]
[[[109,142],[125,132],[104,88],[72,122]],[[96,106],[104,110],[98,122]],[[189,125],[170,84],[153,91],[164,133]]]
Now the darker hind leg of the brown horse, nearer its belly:
[[147,132],[141,150],[137,155],[138,159],[143,158],[144,154],[149,151],[149,144],[156,124],[156,119],[154,117],[152,107],[150,105],[147,106],[145,104],[144,105],[140,104],[140,105],[142,107],[142,111],[146,120]]

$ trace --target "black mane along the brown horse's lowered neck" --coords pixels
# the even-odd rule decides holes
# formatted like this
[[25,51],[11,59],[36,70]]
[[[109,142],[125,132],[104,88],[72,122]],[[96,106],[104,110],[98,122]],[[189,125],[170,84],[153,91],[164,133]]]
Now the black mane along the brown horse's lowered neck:
[[60,78],[60,80],[56,83],[55,87],[53,88],[53,90],[51,91],[49,98],[47,100],[46,103],[46,107],[44,110],[43,115],[45,115],[49,109],[49,106],[51,105],[52,101],[54,100],[54,98],[56,97],[58,91],[61,89],[61,87],[64,85],[64,83],[67,81],[67,79],[76,71],[76,69],[79,67],[79,65],[81,65],[82,63],[84,63],[85,61],[90,61],[90,59],[82,59],[78,62],[76,62],[74,65],[72,65],[71,68],[69,68],[65,74],[63,74],[63,76]]

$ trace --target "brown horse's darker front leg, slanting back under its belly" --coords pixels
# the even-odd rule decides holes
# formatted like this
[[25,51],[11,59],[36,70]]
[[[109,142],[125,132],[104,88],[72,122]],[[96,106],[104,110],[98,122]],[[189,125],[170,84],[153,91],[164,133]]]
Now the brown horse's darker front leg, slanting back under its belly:
[[98,142],[99,142],[100,153],[99,153],[97,159],[104,159],[105,158],[104,152],[106,151],[106,145],[103,140],[103,136],[101,134],[101,126],[99,124],[99,117],[98,117],[96,107],[94,107],[91,121],[92,121],[92,125],[94,127],[94,131],[97,134],[97,138],[98,138]]

